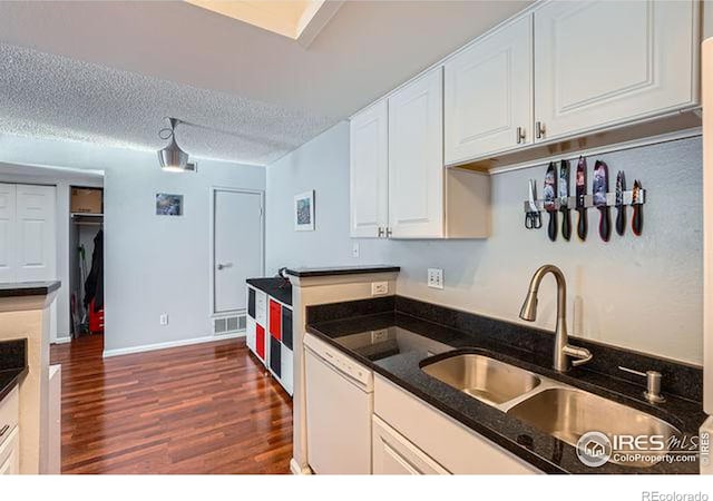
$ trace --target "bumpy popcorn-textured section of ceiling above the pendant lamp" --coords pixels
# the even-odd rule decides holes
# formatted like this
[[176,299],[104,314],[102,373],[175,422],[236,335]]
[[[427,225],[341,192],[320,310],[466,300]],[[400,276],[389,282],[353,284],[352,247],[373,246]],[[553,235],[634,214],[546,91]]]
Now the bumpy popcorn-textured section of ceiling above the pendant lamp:
[[333,119],[0,43],[0,131],[159,149],[166,116],[192,156],[266,165]]

